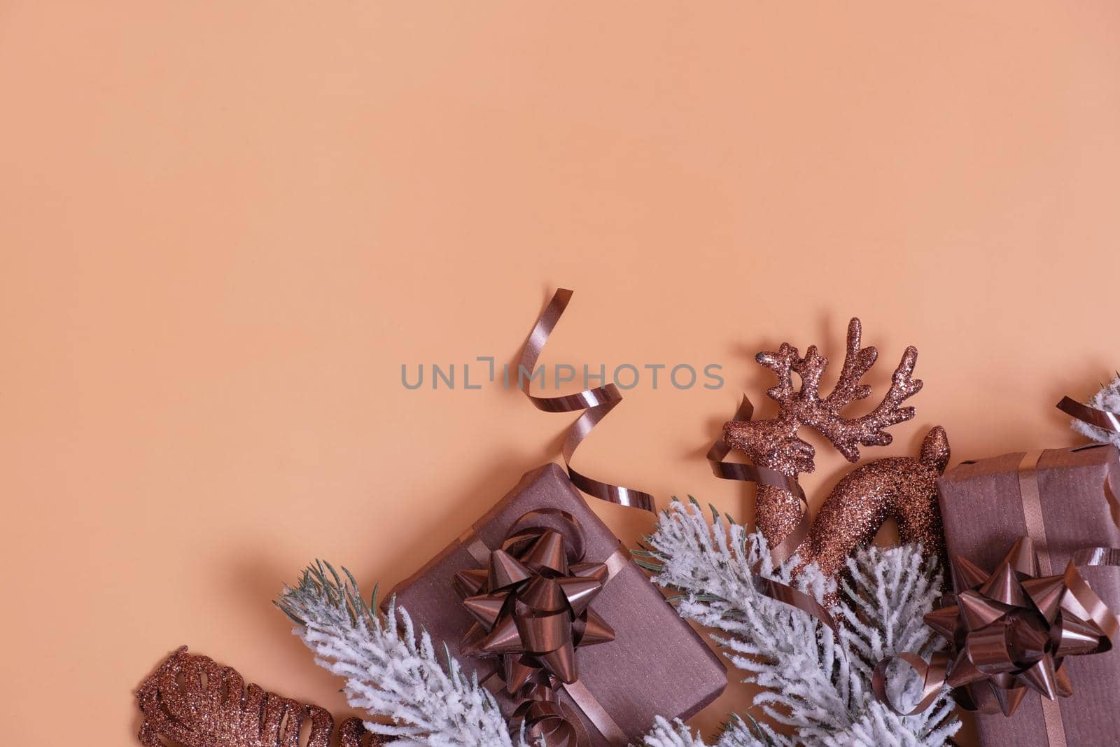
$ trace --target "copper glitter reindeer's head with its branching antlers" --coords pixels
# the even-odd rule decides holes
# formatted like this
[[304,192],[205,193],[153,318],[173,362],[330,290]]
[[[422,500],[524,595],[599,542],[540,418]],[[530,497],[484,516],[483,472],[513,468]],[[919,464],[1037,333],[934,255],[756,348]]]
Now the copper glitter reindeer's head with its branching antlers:
[[[777,384],[766,394],[778,403],[778,414],[771,420],[731,421],[724,426],[728,446],[740,449],[760,467],[769,467],[788,477],[813,471],[813,447],[797,438],[797,429],[809,426],[824,436],[848,461],[859,460],[860,446],[886,446],[890,433],[886,429],[914,417],[914,408],[902,403],[922,389],[922,382],[911,379],[917,351],[912,346],[903,353],[895,370],[890,389],[883,402],[871,412],[856,418],[844,418],[840,411],[856,400],[871,395],[871,387],[859,380],[875,365],[879,352],[875,347],[859,346],[859,319],[848,325],[848,352],[840,380],[832,393],[821,398],[821,375],[829,365],[828,358],[816,346],[797,354],[797,348],[783,343],[777,352],[763,352],[755,360],[777,375]],[[794,390],[793,374],[801,380]]]

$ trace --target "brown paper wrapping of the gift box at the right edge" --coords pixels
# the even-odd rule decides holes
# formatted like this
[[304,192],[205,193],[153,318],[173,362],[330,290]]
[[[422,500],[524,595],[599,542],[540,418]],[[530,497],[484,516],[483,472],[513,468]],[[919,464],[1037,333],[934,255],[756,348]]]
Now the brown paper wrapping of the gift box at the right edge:
[[[1019,496],[1019,463],[1024,454],[963,463],[937,482],[949,552],[992,570],[1018,538],[1027,533]],[[1111,513],[1104,485],[1120,477],[1114,448],[1103,445],[1048,449],[1037,464],[1046,539],[1054,572],[1086,547],[1120,547],[1120,527]],[[1113,482],[1113,484],[1117,484]],[[1101,599],[1120,609],[1120,572],[1085,568],[1082,575]],[[955,581],[954,581],[955,583]],[[956,587],[958,590],[959,587]],[[1120,642],[1107,653],[1066,657],[1073,697],[1060,699],[1066,743],[1120,745]],[[1046,745],[1039,695],[1029,693],[1010,718],[977,715],[984,747]]]

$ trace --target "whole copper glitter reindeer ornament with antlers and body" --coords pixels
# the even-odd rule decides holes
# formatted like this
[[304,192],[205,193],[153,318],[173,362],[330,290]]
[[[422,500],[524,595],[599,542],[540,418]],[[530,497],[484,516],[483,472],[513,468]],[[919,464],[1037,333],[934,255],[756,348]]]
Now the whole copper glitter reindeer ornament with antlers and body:
[[[860,347],[860,323],[848,325],[848,351],[840,377],[828,396],[820,394],[821,376],[829,364],[815,346],[805,356],[783,343],[776,352],[763,352],[755,360],[777,375],[777,384],[766,394],[778,403],[778,414],[769,420],[732,420],[724,427],[726,446],[739,449],[755,466],[785,478],[759,480],[755,521],[771,548],[796,549],[803,563],[816,563],[833,575],[857,547],[870,542],[887,519],[898,523],[904,543],[922,542],[926,552],[943,554],[941,513],[936,480],[949,464],[949,439],[940,426],[930,431],[918,457],[878,459],[849,473],[832,489],[815,521],[806,525],[803,496],[796,486],[801,473],[814,468],[813,447],[797,437],[808,426],[832,443],[848,461],[859,461],[860,446],[886,446],[887,428],[914,417],[914,408],[903,402],[922,389],[913,379],[917,349],[907,347],[879,404],[867,414],[846,417],[841,411],[871,395],[860,379],[875,365],[878,351]],[[794,389],[793,374],[800,379]],[[795,492],[796,491],[796,492]],[[796,544],[788,541],[793,538]],[[800,541],[799,541],[800,540]]]

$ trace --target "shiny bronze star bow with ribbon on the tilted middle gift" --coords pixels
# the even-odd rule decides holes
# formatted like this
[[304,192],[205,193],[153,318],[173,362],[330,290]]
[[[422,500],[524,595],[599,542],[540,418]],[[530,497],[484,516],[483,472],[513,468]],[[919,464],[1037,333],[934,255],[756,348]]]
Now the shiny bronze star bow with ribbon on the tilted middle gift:
[[468,656],[497,659],[505,691],[523,702],[512,726],[557,747],[586,747],[579,719],[556,699],[563,687],[612,744],[625,744],[590,693],[579,683],[576,650],[615,639],[591,601],[623,562],[619,549],[606,562],[584,562],[579,521],[559,508],[521,516],[502,547],[477,540],[468,550],[485,568],[459,571],[455,588],[474,625],[460,648]]

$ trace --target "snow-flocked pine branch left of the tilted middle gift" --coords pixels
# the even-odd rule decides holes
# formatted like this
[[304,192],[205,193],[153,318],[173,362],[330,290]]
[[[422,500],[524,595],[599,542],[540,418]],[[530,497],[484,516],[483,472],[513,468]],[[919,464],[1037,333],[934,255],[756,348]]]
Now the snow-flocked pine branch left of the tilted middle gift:
[[[421,632],[419,643],[403,608],[377,611],[376,589],[368,604],[357,582],[329,563],[316,562],[299,583],[284,587],[277,606],[315,652],[316,663],[346,680],[343,692],[354,708],[389,717],[393,726],[367,722],[390,745],[427,747],[529,747],[513,739],[494,697],[467,678],[444,647],[436,654]],[[441,661],[442,660],[442,661]]]

